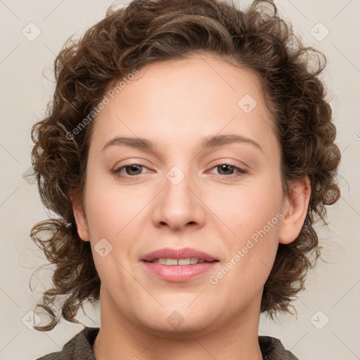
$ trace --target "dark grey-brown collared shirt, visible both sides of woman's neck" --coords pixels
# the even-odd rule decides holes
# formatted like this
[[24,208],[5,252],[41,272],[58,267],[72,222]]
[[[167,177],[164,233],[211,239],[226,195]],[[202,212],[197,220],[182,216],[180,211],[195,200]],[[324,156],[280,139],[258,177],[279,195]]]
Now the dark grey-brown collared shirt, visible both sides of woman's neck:
[[[69,340],[60,352],[52,352],[37,360],[96,360],[92,345],[98,330],[99,328],[85,327]],[[259,335],[259,347],[264,360],[298,360],[285,350],[279,339],[271,336]]]

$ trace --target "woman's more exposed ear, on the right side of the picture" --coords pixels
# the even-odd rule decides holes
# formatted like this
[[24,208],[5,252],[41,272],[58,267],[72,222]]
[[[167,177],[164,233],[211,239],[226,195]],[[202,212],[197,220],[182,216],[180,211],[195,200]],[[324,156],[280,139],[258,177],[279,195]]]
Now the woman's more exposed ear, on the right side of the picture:
[[304,176],[289,185],[289,195],[285,195],[283,201],[283,219],[281,219],[280,224],[279,243],[291,243],[299,236],[307,216],[310,194],[309,176]]

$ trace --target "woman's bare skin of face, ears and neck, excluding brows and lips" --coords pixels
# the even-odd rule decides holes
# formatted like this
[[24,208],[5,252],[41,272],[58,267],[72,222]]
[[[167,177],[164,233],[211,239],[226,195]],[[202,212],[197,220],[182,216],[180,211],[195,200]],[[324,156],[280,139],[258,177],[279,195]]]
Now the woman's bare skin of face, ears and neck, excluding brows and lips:
[[[245,94],[257,101],[250,113],[238,106]],[[153,63],[93,121],[84,208],[74,193],[72,199],[79,236],[91,242],[101,278],[96,359],[262,359],[263,286],[278,243],[292,242],[302,229],[310,187],[306,176],[289,184],[289,195],[282,191],[281,148],[257,75],[210,55]],[[245,136],[262,150],[246,142],[201,150],[205,137],[219,134]],[[155,150],[102,151],[115,136],[146,138]],[[143,167],[113,173],[133,162]],[[226,162],[246,173],[221,168]],[[166,176],[174,166],[185,176],[177,185]],[[282,219],[210,283],[277,213]],[[101,238],[113,246],[105,257],[94,250]],[[191,281],[165,281],[139,261],[165,247],[203,250],[219,262]],[[167,322],[173,311],[184,319],[178,328]]]

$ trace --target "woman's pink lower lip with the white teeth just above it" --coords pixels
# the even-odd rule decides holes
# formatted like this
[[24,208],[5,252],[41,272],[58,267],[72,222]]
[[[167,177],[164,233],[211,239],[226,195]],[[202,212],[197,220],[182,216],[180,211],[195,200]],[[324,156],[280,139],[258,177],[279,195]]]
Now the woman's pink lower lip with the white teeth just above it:
[[146,269],[158,278],[174,283],[189,281],[214,269],[219,262],[199,262],[192,265],[165,265],[158,262],[142,262]]

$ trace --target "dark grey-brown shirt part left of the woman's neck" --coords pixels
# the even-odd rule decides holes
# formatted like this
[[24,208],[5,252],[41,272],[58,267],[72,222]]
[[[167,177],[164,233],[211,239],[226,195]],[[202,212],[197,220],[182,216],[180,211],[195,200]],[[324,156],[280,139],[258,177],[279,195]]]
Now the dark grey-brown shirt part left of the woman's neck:
[[95,360],[92,345],[99,328],[85,327],[71,338],[60,352],[52,352],[36,360]]

